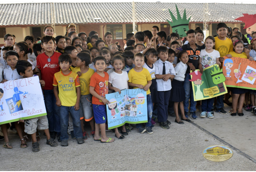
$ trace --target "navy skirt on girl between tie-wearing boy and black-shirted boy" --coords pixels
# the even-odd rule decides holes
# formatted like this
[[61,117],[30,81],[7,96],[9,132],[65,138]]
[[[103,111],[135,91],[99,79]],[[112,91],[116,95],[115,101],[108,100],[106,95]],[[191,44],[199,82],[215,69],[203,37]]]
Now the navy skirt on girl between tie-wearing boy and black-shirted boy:
[[184,81],[173,79],[171,82],[170,101],[183,102],[185,101],[185,89],[183,87]]

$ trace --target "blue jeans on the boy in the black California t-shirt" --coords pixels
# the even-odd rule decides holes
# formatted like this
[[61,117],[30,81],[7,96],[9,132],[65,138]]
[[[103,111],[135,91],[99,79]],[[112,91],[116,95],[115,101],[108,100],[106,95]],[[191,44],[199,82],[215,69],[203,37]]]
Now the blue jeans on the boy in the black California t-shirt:
[[185,89],[185,101],[184,103],[184,111],[188,112],[189,111],[189,99],[190,99],[190,112],[195,112],[196,111],[196,102],[194,101],[194,96],[193,96],[193,88],[192,88],[192,84],[191,81],[189,81],[189,79],[191,79],[191,76],[189,75],[189,73],[185,74],[185,80],[183,82],[183,87]]

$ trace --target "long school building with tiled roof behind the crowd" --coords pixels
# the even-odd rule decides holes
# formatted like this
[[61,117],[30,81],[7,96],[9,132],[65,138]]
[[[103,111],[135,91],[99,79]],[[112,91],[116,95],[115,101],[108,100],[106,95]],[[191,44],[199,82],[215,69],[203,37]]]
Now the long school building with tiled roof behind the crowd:
[[[209,35],[216,35],[216,25],[225,22],[227,26],[240,28],[246,34],[244,23],[234,20],[243,13],[255,14],[256,4],[221,4],[209,3],[205,10],[204,3],[142,3],[135,2],[135,21],[137,31],[151,30],[157,25],[167,34],[172,33],[167,19],[171,21],[170,9],[177,17],[178,6],[182,17],[186,9],[187,18],[191,16],[189,28],[201,26],[208,21]],[[27,35],[43,36],[46,25],[55,25],[55,35],[65,35],[69,24],[77,25],[77,33],[97,31],[101,38],[109,31],[113,42],[119,41],[133,31],[132,3],[25,3],[0,4],[0,40],[5,34],[14,34],[16,42],[24,40]],[[207,15],[204,15],[207,14]],[[0,45],[4,42],[0,41]]]

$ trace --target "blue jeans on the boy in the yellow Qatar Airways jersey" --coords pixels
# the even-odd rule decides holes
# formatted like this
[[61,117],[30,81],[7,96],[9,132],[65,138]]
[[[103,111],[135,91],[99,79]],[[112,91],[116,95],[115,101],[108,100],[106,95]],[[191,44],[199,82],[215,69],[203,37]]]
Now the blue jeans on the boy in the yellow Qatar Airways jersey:
[[73,120],[74,136],[76,138],[82,138],[82,128],[80,122],[80,109],[75,110],[74,106],[60,106],[60,118],[61,118],[61,140],[68,140],[67,127],[68,127],[68,112]]

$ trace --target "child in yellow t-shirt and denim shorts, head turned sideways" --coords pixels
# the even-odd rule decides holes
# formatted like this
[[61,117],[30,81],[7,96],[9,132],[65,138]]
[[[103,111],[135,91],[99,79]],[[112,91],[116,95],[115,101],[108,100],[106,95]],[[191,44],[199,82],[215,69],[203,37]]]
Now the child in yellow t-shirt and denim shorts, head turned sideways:
[[89,122],[91,126],[91,134],[94,137],[94,119],[92,113],[92,95],[89,92],[90,78],[94,74],[94,70],[89,68],[91,57],[88,53],[78,53],[76,56],[76,72],[80,79],[81,97],[80,97],[80,120],[83,131],[83,139],[86,140],[86,131],[84,129],[84,121]]

